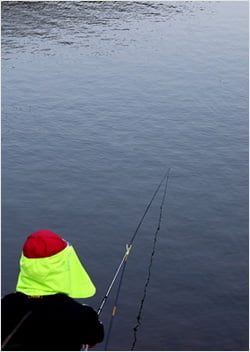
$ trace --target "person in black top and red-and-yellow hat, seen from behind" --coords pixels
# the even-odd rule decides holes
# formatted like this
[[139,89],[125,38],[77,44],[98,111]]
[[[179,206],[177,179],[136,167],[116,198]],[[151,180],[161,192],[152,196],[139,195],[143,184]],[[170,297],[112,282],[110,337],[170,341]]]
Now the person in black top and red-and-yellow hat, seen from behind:
[[80,304],[96,289],[74,248],[49,230],[24,243],[16,292],[2,298],[2,350],[77,351],[100,343],[104,327]]

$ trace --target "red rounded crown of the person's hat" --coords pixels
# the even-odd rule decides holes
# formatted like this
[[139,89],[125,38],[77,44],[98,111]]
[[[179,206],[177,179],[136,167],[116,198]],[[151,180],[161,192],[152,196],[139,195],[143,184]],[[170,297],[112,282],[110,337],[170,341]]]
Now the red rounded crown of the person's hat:
[[27,258],[45,258],[57,254],[67,247],[67,242],[56,233],[40,230],[28,236],[23,246]]

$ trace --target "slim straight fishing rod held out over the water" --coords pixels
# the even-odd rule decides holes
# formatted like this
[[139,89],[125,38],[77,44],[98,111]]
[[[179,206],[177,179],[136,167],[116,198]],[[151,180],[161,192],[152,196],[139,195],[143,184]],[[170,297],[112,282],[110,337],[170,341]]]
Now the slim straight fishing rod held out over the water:
[[150,202],[148,203],[148,205],[147,205],[147,207],[146,207],[146,209],[145,209],[145,211],[144,211],[144,213],[143,213],[143,215],[142,215],[142,217],[141,217],[141,219],[140,219],[140,221],[139,221],[139,223],[137,225],[137,228],[136,228],[135,232],[133,233],[133,235],[131,237],[131,240],[130,240],[129,244],[126,244],[126,251],[125,251],[125,253],[123,255],[123,258],[122,258],[120,264],[118,265],[118,267],[117,267],[117,269],[115,271],[115,274],[114,274],[114,276],[113,276],[113,278],[112,278],[112,280],[111,280],[111,282],[110,282],[110,284],[108,286],[107,292],[106,292],[105,296],[103,297],[103,299],[101,301],[101,304],[100,304],[100,306],[99,306],[99,308],[97,310],[97,314],[98,315],[100,315],[102,310],[103,310],[103,307],[104,307],[104,305],[105,305],[105,303],[106,303],[106,301],[108,299],[108,296],[109,296],[109,294],[110,294],[110,292],[111,292],[111,290],[112,290],[112,288],[114,286],[114,283],[115,283],[115,281],[116,281],[116,279],[117,279],[117,277],[118,277],[118,275],[119,275],[119,273],[120,273],[120,271],[121,271],[121,269],[123,267],[123,264],[127,262],[127,259],[128,259],[129,254],[130,254],[130,251],[132,249],[132,246],[133,246],[133,243],[135,241],[136,235],[137,235],[137,233],[138,233],[138,231],[139,231],[139,229],[140,229],[140,227],[141,227],[141,225],[143,223],[143,220],[144,220],[145,216],[147,215],[147,213],[148,213],[148,211],[149,211],[149,209],[150,209],[150,207],[151,207],[156,195],[158,194],[158,192],[159,192],[159,190],[161,188],[161,185],[163,184],[163,182],[166,179],[168,180],[169,174],[170,174],[170,168],[168,168],[167,172],[164,174],[164,176],[162,177],[160,183],[158,184],[158,186],[157,186],[157,188],[156,188],[156,190],[155,190]]

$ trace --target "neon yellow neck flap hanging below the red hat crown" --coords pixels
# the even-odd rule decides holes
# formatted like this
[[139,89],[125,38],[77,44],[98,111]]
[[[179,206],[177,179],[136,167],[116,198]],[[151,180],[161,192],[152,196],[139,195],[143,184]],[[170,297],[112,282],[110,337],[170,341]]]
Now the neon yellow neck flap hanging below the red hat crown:
[[69,245],[46,258],[27,258],[22,254],[16,291],[28,296],[65,293],[72,298],[86,298],[93,296],[96,289]]

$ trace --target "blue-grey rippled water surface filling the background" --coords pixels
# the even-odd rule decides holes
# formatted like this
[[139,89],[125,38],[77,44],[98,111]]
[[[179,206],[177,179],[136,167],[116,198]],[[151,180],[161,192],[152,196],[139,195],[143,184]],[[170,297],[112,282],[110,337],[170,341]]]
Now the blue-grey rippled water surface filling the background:
[[[26,236],[49,228],[97,308],[168,167],[136,349],[247,350],[248,3],[2,2],[3,295]],[[160,200],[110,350],[131,348]]]

